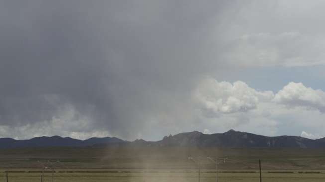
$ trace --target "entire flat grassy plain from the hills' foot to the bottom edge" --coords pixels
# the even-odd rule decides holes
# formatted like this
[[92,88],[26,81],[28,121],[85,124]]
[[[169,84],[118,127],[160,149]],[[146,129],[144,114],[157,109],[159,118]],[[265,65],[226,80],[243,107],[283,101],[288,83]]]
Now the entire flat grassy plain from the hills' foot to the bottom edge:
[[215,182],[215,164],[207,157],[228,159],[219,165],[219,182],[324,182],[324,149],[196,147],[52,147],[0,150],[0,182]]

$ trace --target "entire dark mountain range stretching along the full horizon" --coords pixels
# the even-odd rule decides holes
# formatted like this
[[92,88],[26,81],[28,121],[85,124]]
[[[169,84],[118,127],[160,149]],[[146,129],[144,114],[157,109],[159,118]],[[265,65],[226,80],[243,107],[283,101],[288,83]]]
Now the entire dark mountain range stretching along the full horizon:
[[29,140],[0,138],[0,149],[25,147],[84,147],[92,145],[130,145],[154,147],[244,147],[244,148],[325,148],[325,138],[308,139],[299,136],[268,137],[252,133],[229,130],[225,133],[203,134],[198,131],[165,136],[162,140],[152,142],[135,140],[129,142],[116,137],[89,138],[78,140],[70,137],[36,137]]

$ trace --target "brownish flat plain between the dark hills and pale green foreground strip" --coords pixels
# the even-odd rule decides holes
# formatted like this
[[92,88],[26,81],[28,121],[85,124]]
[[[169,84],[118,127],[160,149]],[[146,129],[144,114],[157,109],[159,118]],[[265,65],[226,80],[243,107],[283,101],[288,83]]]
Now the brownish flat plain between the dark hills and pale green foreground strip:
[[203,169],[214,169],[207,160],[227,158],[220,169],[325,170],[325,149],[299,148],[197,148],[197,147],[49,147],[0,150],[0,169],[195,169],[188,157],[202,160]]

